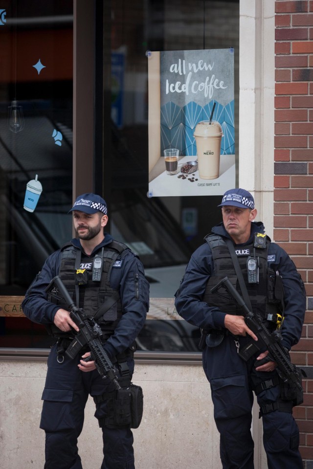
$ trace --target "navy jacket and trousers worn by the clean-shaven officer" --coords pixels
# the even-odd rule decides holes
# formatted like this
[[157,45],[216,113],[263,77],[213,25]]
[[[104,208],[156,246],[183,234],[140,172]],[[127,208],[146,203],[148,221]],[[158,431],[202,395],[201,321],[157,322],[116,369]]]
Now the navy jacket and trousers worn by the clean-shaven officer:
[[[220,223],[212,229],[224,238],[230,238]],[[251,237],[247,243],[236,245],[236,249],[251,244],[255,232],[264,233],[262,223],[251,223]],[[278,271],[284,285],[285,318],[281,326],[283,344],[288,350],[301,336],[306,308],[303,282],[288,254],[274,243],[268,248],[268,266]],[[224,328],[225,313],[217,306],[202,300],[208,278],[214,273],[214,262],[210,246],[205,243],[191,256],[176,295],[175,305],[179,315],[194,326],[204,330]],[[239,336],[240,346],[250,338]],[[235,339],[227,335],[216,347],[205,346],[202,363],[210,382],[214,419],[220,432],[220,453],[224,469],[253,469],[253,440],[251,437],[252,389],[265,380],[277,378],[277,373],[257,372],[255,358],[245,362],[237,353]],[[280,386],[275,385],[258,393],[257,401],[264,404],[277,402]],[[298,451],[299,431],[291,412],[274,410],[262,415],[264,447],[268,468],[300,469],[302,459]]]

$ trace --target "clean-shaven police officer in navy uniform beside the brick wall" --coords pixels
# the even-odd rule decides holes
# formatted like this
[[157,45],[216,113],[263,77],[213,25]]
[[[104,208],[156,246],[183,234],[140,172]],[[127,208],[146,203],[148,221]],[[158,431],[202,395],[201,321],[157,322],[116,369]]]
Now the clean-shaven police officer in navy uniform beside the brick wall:
[[202,330],[202,364],[211,386],[222,465],[254,468],[250,432],[254,391],[268,468],[302,469],[294,402],[288,393],[286,397],[276,363],[263,349],[247,361],[241,357],[257,337],[226,290],[221,295],[214,287],[227,276],[242,296],[246,290],[252,311],[262,315],[270,332],[281,324],[282,343],[289,351],[301,336],[306,308],[303,282],[288,254],[265,235],[263,223],[254,222],[257,211],[249,192],[228,190],[219,206],[223,223],[212,228],[191,256],[175,305],[184,319]]

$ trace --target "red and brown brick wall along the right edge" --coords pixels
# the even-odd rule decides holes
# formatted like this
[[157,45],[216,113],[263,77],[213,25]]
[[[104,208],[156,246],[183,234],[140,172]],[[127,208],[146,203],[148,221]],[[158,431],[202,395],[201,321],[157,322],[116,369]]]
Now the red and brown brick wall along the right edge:
[[313,469],[313,0],[275,1],[274,241],[305,282],[308,309],[291,357],[307,372],[293,414],[300,451]]

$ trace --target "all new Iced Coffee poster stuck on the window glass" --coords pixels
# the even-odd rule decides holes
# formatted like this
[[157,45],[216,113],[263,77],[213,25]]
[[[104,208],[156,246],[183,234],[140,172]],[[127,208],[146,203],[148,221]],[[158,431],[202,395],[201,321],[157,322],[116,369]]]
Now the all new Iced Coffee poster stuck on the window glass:
[[235,186],[234,50],[148,52],[149,197]]

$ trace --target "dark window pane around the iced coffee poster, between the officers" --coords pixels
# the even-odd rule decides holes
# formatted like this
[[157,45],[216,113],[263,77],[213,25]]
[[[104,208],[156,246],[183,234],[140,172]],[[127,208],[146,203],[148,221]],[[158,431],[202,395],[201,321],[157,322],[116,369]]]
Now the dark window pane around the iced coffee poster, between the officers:
[[[199,331],[174,310],[191,253],[221,221],[221,196],[148,197],[147,51],[234,49],[235,148],[238,148],[239,0],[112,2],[112,152],[104,152],[111,233],[142,260],[151,309],[141,350],[198,351]],[[185,181],[189,183],[188,180]]]

